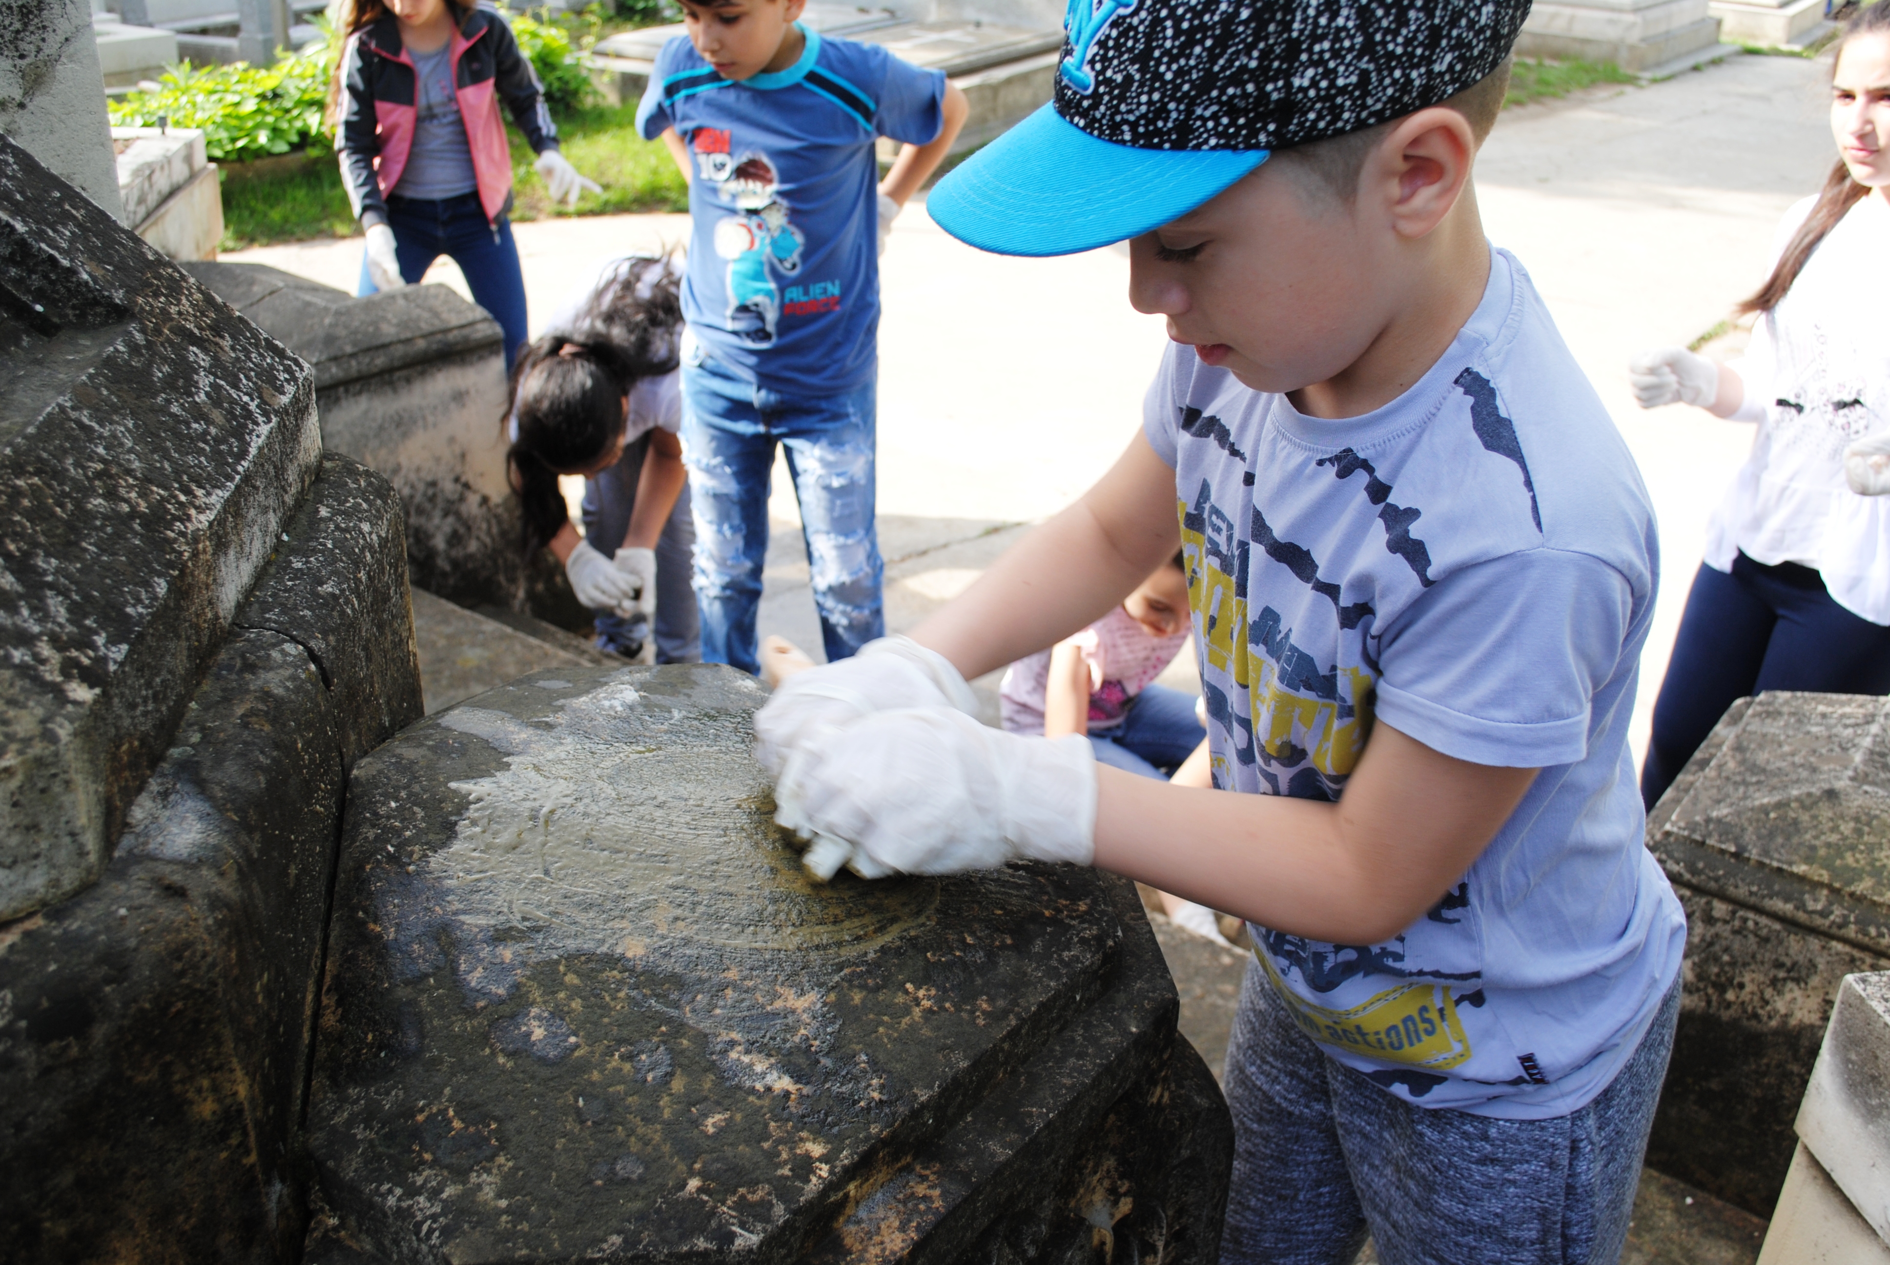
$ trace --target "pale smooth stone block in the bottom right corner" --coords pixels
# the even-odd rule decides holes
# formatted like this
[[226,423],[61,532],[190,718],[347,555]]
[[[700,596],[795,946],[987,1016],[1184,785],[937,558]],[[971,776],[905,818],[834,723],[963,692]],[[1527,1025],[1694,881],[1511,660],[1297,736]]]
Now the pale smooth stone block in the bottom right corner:
[[1890,1265],[1890,976],[1848,976],[1760,1265]]

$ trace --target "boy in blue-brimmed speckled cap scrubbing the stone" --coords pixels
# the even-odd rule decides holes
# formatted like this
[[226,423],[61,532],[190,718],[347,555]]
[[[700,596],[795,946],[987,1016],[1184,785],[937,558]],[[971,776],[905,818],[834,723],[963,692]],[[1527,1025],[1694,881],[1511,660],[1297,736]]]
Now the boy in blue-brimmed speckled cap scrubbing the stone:
[[[756,717],[818,870],[1070,860],[1249,919],[1223,1261],[1612,1261],[1633,1208],[1686,940],[1627,751],[1656,529],[1476,212],[1527,8],[1072,0],[1053,106],[928,210],[1128,240],[1174,340],[1142,435]],[[1177,545],[1213,788],[968,715]]]

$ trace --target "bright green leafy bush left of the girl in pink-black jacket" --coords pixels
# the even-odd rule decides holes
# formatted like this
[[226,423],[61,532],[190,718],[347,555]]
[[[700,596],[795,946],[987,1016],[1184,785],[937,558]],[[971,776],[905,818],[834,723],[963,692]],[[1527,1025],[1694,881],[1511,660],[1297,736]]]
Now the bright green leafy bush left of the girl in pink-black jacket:
[[108,110],[115,127],[157,127],[159,117],[166,117],[170,127],[204,129],[212,163],[263,159],[327,140],[321,108],[333,66],[327,43],[284,57],[266,70],[248,62],[202,68],[178,62],[155,93],[112,98]]

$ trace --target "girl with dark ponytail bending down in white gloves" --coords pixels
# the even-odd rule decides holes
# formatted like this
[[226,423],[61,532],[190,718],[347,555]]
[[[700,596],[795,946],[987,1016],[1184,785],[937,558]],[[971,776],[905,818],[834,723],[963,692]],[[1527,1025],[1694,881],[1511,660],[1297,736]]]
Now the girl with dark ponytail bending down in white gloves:
[[[701,660],[690,569],[696,529],[682,469],[677,344],[682,303],[665,259],[612,259],[512,371],[507,459],[524,546],[550,546],[597,616],[597,645],[658,664]],[[584,535],[559,475],[584,477]]]

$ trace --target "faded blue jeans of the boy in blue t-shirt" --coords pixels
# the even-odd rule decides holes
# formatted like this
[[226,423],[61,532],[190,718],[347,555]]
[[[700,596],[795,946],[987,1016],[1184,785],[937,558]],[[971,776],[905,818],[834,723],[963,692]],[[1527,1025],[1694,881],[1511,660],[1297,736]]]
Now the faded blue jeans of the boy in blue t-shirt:
[[696,507],[703,662],[760,671],[754,620],[767,562],[767,482],[788,452],[828,662],[886,633],[873,529],[877,376],[847,395],[794,399],[697,354],[682,363],[682,458]]

